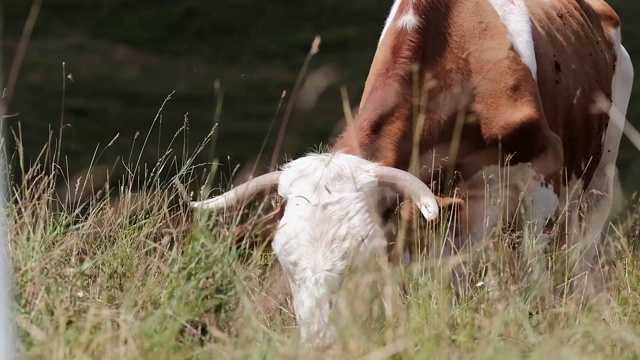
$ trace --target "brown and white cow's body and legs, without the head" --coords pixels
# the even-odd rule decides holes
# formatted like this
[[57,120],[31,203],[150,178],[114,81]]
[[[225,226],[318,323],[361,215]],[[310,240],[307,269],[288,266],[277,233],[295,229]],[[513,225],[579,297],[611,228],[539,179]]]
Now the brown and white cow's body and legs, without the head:
[[[497,195],[499,186],[492,184],[496,192],[486,194],[487,176],[498,181],[496,165],[507,159],[511,179],[500,181],[509,183],[510,204],[520,203],[529,184],[539,216],[566,209],[564,240],[589,243],[611,208],[633,79],[620,41],[620,21],[603,0],[396,0],[355,126],[334,150],[408,169],[418,114],[424,120],[420,177],[442,191],[440,170],[453,163],[447,157],[462,109],[472,118],[463,126],[453,165],[466,200],[467,231],[454,245],[461,246],[467,235],[472,242],[481,240],[482,225],[495,223],[485,212],[491,213],[486,199]],[[417,72],[412,65],[419,65]],[[414,113],[416,88],[420,106]],[[617,116],[594,106],[598,94],[613,103]],[[571,199],[567,188],[577,190]],[[573,200],[582,191],[589,208],[582,222],[588,227],[580,229]],[[592,256],[593,250],[585,254],[585,266]]]

